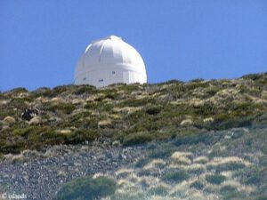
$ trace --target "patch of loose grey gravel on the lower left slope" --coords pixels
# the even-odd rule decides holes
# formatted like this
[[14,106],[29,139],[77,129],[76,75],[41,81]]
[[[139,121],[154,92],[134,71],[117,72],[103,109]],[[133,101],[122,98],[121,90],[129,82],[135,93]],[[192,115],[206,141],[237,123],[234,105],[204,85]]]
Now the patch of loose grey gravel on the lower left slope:
[[109,142],[75,146],[53,146],[45,151],[24,151],[7,155],[0,163],[0,193],[22,195],[27,199],[51,200],[62,184],[93,175],[115,172],[133,164],[145,148],[115,147]]

